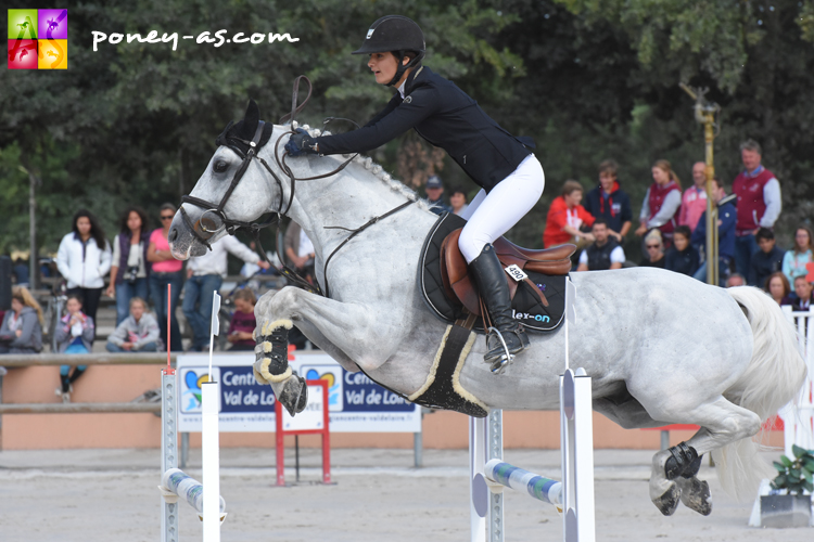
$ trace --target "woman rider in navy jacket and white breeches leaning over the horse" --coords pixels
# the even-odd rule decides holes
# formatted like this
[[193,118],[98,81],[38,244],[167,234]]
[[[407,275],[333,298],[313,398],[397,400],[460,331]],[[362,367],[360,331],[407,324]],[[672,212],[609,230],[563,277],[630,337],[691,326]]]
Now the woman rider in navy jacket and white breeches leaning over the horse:
[[[543,167],[523,141],[489,118],[474,100],[422,66],[424,52],[424,36],[416,23],[400,15],[378,20],[353,54],[369,54],[376,82],[398,92],[363,128],[321,138],[310,138],[302,130],[291,137],[285,150],[292,156],[363,153],[414,128],[449,153],[482,189],[461,214],[468,222],[458,246],[493,326],[514,354],[529,347],[529,338],[511,317],[506,275],[492,242],[537,203],[545,185]],[[486,362],[505,361],[504,346],[492,332],[487,347]]]

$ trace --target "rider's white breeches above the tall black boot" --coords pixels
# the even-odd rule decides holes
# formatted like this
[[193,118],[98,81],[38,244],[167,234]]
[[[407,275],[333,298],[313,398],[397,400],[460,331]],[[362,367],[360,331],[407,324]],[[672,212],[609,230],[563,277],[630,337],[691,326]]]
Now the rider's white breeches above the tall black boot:
[[517,224],[537,203],[545,185],[543,166],[531,154],[492,192],[486,194],[481,190],[460,215],[469,220],[458,238],[467,263],[478,258],[486,244]]

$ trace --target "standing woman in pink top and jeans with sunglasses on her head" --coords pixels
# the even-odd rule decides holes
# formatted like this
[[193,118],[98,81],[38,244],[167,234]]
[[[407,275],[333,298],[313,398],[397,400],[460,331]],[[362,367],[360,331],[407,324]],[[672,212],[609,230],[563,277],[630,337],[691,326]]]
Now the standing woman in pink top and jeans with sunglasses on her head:
[[[178,328],[178,320],[175,312],[178,308],[178,297],[181,295],[181,284],[183,283],[183,274],[181,272],[183,263],[173,257],[173,253],[169,250],[169,243],[167,242],[167,234],[173,223],[175,210],[173,204],[161,206],[160,217],[162,228],[154,230],[150,234],[147,259],[152,262],[152,269],[150,270],[150,296],[153,298],[153,305],[155,305],[155,315],[162,323],[167,321],[167,284],[171,286],[171,297],[169,300],[169,333],[171,338],[169,340],[169,349],[181,351],[183,350],[183,346],[181,345],[181,333]],[[132,304],[130,304],[130,314],[132,314]],[[167,327],[166,325],[158,327],[161,327],[161,338],[166,345]]]

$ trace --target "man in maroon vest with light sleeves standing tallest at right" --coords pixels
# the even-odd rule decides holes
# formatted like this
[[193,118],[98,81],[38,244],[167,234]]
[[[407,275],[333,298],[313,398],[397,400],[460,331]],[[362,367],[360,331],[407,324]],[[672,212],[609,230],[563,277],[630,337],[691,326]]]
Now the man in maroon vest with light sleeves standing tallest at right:
[[738,224],[735,228],[735,267],[748,275],[752,255],[758,251],[754,234],[759,228],[772,229],[780,216],[780,183],[774,173],[761,165],[760,144],[747,140],[740,145],[743,171],[733,181],[738,196]]

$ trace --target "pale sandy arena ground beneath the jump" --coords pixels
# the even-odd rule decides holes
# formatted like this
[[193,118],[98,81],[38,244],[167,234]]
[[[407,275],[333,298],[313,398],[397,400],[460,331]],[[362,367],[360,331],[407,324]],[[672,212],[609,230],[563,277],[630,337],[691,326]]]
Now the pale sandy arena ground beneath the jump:
[[[198,453],[195,453],[198,452]],[[294,464],[288,454],[287,467]],[[650,452],[597,450],[597,540],[814,540],[814,529],[747,527],[752,503],[725,495],[704,465],[714,507],[702,517],[679,507],[662,516],[647,490]],[[508,462],[559,478],[559,452],[508,450]],[[320,478],[316,450],[301,454],[303,483],[277,488],[274,451],[221,450],[221,494],[228,541],[466,541],[469,540],[468,454],[423,452],[412,467],[407,450],[334,450],[333,486]],[[96,542],[161,540],[157,450],[0,452],[0,541]],[[200,451],[187,472],[200,479]],[[294,469],[287,468],[287,479]],[[506,540],[562,540],[552,507],[506,490]],[[180,540],[201,540],[201,524],[182,504]]]

